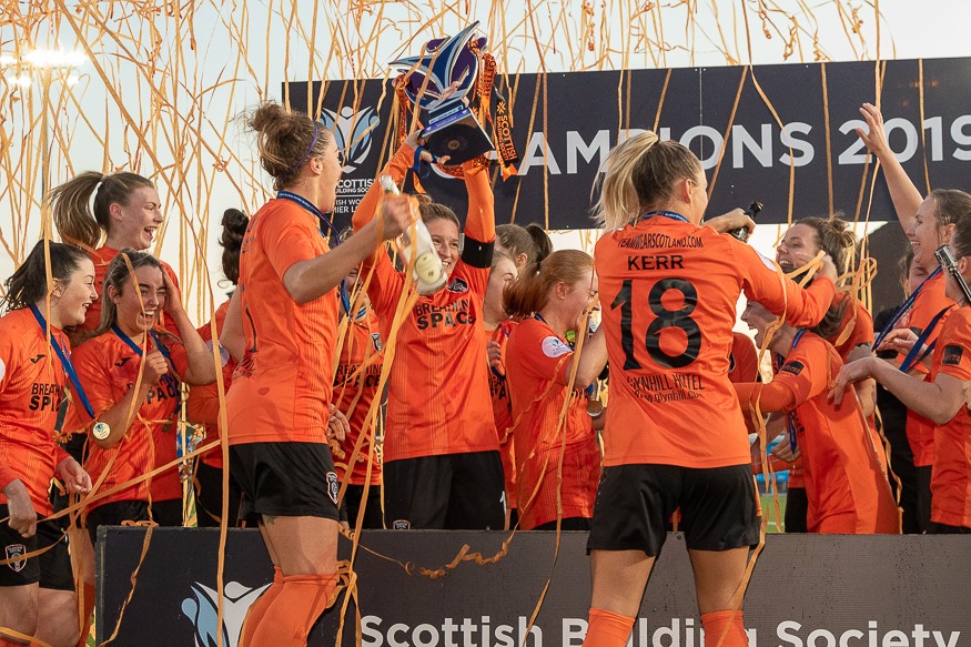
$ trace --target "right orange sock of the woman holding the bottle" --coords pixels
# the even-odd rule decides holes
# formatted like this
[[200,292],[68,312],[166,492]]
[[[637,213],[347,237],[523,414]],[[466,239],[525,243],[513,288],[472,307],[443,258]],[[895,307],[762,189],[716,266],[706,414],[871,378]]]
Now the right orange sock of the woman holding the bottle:
[[334,575],[285,576],[280,593],[253,631],[252,645],[306,647],[306,637],[327,608],[336,586]]

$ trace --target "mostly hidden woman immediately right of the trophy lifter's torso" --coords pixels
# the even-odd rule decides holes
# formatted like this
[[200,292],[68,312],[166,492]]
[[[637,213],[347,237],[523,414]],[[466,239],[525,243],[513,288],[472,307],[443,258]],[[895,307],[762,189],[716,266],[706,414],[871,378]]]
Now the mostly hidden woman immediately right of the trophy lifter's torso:
[[[522,228],[520,228],[522,229]],[[516,464],[513,443],[513,401],[506,380],[506,342],[516,322],[509,319],[503,307],[503,291],[518,279],[519,272],[513,260],[496,252],[489,282],[483,300],[482,314],[488,342],[486,356],[489,362],[489,397],[493,402],[493,419],[496,437],[499,439],[499,454],[503,458],[503,478],[506,484],[506,524],[508,529],[516,525]]]

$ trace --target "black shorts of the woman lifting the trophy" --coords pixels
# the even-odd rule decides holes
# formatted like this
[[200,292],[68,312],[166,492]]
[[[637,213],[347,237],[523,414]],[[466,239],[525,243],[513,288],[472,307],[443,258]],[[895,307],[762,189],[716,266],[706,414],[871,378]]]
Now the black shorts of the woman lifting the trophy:
[[506,524],[498,452],[390,461],[382,475],[390,530],[500,530]]

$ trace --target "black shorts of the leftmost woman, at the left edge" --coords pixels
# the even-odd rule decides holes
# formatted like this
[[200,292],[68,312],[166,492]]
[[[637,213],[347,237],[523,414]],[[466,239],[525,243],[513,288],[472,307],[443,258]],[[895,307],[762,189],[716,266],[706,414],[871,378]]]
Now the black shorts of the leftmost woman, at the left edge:
[[[10,514],[7,505],[0,505],[0,518]],[[30,559],[19,558],[28,553],[53,545],[52,548]],[[74,590],[74,574],[68,555],[68,542],[55,522],[41,522],[37,534],[30,538],[0,524],[0,560],[11,559],[0,566],[0,586],[26,586],[40,584],[41,588]]]

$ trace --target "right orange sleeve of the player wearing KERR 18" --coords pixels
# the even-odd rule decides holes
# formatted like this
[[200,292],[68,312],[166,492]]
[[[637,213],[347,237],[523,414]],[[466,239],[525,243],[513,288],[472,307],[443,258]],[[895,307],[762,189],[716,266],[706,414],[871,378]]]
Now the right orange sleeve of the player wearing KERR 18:
[[746,296],[772,314],[785,315],[786,321],[797,327],[815,326],[822,320],[832,303],[832,281],[817,276],[803,290],[749,245],[734,239],[731,242],[736,243],[731,244],[730,250],[735,254]]

